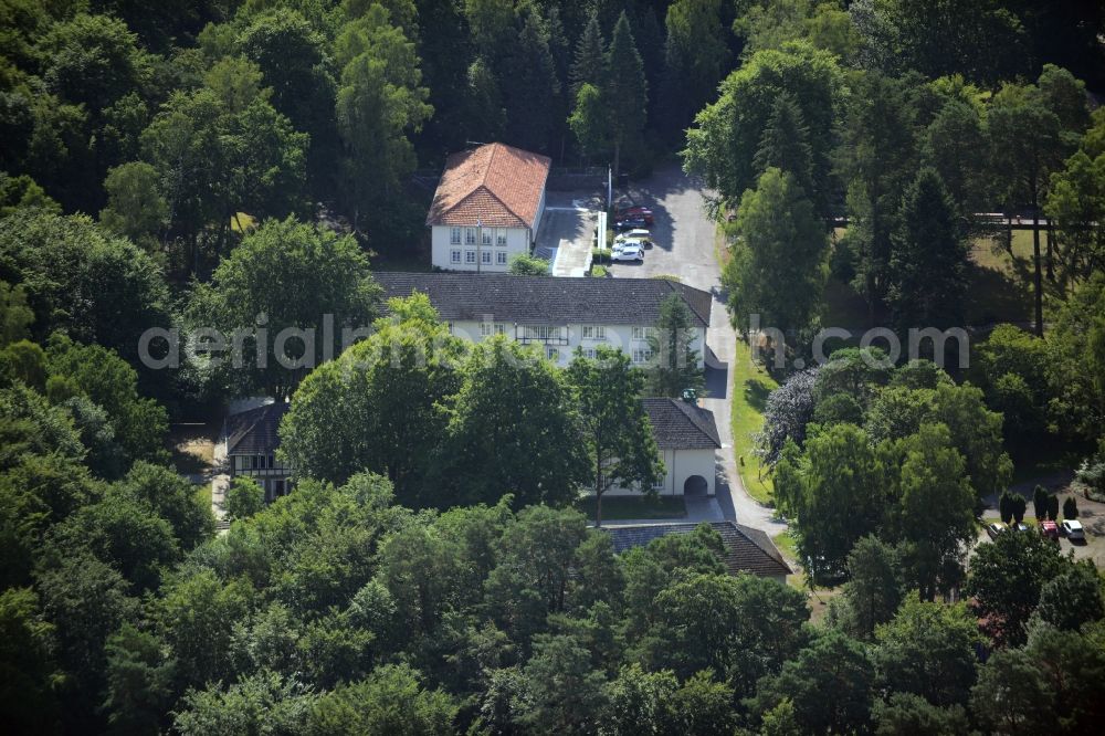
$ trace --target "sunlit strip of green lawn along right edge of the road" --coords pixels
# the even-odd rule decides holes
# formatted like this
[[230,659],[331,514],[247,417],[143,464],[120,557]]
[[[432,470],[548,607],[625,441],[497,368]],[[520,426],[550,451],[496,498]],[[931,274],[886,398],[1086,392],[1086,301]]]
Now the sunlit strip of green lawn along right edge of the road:
[[771,503],[771,480],[760,477],[760,462],[753,454],[753,435],[764,427],[764,404],[778,387],[762,367],[753,362],[748,344],[737,339],[733,361],[733,454],[748,495],[761,504]]

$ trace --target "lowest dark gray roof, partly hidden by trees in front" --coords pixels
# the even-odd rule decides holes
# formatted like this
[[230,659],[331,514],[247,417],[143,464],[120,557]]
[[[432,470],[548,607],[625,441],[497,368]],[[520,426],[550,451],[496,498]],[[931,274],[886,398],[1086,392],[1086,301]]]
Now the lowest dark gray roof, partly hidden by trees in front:
[[[766,534],[736,522],[709,522],[709,526],[722,536],[725,547],[723,561],[730,575],[751,572],[764,577],[790,575],[792,570]],[[691,534],[697,524],[648,524],[640,526],[602,527],[610,535],[615,553],[633,547],[643,547],[653,539],[669,534]]]

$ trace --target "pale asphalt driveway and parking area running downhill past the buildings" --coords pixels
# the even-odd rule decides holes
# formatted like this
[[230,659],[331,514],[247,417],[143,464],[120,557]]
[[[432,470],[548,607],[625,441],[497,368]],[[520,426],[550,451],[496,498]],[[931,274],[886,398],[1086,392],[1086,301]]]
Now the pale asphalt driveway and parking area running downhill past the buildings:
[[725,518],[776,535],[786,525],[771,518],[771,509],[756,503],[740,483],[733,454],[732,401],[728,366],[735,359],[736,334],[729,325],[722,295],[722,269],[714,254],[714,222],[706,217],[703,189],[677,166],[669,166],[645,181],[634,182],[625,192],[636,204],[653,211],[655,244],[645,252],[644,263],[615,263],[615,278],[678,276],[690,286],[714,294],[709,329],[706,333],[706,390],[703,406],[714,412],[723,448],[718,452],[717,502]]

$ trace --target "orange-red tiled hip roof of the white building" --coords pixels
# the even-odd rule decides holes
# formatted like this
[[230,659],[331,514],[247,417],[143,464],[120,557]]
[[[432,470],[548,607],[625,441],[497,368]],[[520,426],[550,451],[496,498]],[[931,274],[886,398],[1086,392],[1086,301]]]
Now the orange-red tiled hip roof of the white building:
[[503,144],[453,154],[433,196],[428,225],[536,229],[551,159]]

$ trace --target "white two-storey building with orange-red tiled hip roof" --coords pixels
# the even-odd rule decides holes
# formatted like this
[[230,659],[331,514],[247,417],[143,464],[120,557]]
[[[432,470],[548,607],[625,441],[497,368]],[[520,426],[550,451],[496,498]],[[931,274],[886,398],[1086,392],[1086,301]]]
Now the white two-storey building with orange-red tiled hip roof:
[[550,162],[498,143],[450,156],[425,219],[433,265],[504,272],[528,254],[545,214]]

